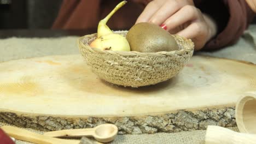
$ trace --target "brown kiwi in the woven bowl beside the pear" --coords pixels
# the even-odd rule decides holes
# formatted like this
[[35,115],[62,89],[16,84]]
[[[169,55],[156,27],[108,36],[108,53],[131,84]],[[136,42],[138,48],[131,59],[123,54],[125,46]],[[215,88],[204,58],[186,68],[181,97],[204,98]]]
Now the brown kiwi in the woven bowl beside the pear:
[[126,35],[131,51],[159,52],[178,50],[173,36],[159,26],[141,22],[132,26]]

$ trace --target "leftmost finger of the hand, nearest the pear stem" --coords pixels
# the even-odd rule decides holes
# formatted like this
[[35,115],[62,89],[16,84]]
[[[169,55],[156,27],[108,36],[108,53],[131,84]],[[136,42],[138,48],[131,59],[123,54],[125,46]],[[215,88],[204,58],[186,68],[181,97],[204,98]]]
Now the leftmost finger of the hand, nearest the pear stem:
[[[160,3],[159,3],[160,2]],[[152,1],[150,2],[147,7],[142,11],[141,15],[139,15],[136,23],[139,22],[148,22],[150,17],[158,11],[158,9],[161,7],[161,4],[164,3],[164,1]]]

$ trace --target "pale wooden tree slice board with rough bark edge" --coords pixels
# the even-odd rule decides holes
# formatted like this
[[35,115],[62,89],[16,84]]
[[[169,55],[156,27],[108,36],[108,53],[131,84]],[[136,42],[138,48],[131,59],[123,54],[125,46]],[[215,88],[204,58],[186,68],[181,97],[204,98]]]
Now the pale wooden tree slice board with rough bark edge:
[[194,56],[173,79],[130,88],[99,79],[80,55],[0,63],[0,121],[40,130],[114,123],[120,134],[235,126],[234,107],[256,89],[251,63]]

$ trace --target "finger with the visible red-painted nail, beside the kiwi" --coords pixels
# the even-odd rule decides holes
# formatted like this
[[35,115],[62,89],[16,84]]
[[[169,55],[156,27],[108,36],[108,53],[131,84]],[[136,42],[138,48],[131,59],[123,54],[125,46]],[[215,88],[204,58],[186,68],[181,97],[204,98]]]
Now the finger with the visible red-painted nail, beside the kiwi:
[[197,17],[199,17],[199,15],[199,10],[197,10],[195,7],[185,5],[164,22],[164,24],[167,26],[166,30],[170,31],[171,29],[179,27],[186,22],[194,21],[197,19]]

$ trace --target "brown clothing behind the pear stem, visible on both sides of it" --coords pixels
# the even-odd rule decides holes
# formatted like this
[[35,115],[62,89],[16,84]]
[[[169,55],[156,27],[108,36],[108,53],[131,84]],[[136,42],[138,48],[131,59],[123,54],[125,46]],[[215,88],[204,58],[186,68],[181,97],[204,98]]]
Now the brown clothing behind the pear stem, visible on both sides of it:
[[[98,22],[114,9],[116,0],[64,0],[53,29],[97,28]],[[143,11],[143,4],[129,1],[119,9],[107,25],[110,29],[128,29]]]

